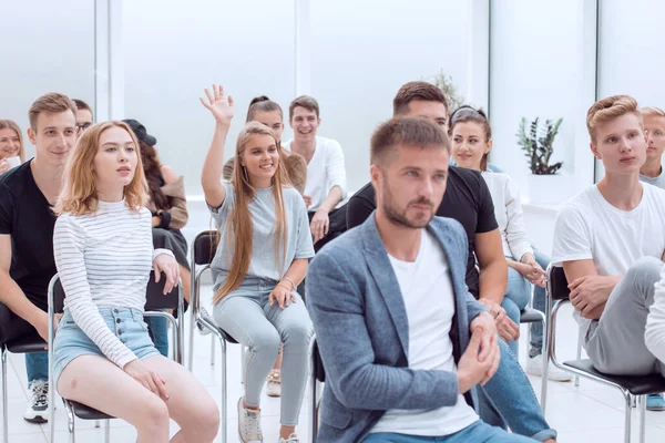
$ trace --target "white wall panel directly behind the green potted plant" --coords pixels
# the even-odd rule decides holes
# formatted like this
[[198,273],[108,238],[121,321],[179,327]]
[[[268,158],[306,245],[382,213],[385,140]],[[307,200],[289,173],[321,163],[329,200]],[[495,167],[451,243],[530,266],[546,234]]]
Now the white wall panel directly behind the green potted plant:
[[[563,117],[552,163],[563,161],[564,200],[593,183],[593,158],[586,147],[584,107],[594,100],[593,1],[531,0],[491,3],[490,119],[491,162],[510,174],[529,195],[529,164],[516,143],[520,119]],[[591,64],[590,64],[591,63]],[[590,166],[591,165],[591,166]]]

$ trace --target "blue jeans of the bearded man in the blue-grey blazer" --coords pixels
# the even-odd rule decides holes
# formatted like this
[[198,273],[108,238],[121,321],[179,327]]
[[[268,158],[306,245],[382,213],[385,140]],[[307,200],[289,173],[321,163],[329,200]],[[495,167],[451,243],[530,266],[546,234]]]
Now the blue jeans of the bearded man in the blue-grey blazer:
[[533,442],[522,435],[509,434],[499,427],[492,427],[489,424],[481,422],[480,420],[475,423],[464,427],[463,430],[456,432],[454,434],[446,436],[418,436],[418,435],[406,435],[395,434],[390,432],[378,432],[376,434],[369,434],[362,443],[509,443],[509,442]]

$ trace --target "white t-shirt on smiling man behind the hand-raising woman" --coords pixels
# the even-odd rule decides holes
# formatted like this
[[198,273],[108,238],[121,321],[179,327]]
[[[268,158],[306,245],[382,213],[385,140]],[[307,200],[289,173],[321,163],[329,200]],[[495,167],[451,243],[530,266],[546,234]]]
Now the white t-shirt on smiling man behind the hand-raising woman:
[[[291,142],[293,140],[286,142],[284,147],[291,151]],[[347,200],[344,151],[339,143],[331,138],[316,137],[316,148],[307,164],[307,183],[304,195],[311,197],[311,205],[307,210],[311,213],[318,209],[334,186],[339,186],[341,189],[341,200],[336,206],[340,207]]]

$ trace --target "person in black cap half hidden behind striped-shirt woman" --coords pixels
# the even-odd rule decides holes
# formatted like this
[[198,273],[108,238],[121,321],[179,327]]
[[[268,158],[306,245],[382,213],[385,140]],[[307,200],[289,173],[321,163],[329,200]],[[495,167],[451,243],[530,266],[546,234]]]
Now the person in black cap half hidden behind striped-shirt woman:
[[[123,120],[139,140],[143,174],[147,182],[146,207],[152,214],[152,235],[155,249],[168,249],[178,264],[183,281],[184,299],[190,301],[190,262],[187,261],[187,240],[181,233],[187,224],[187,199],[185,183],[181,175],[160,162],[155,145],[157,140],[150,135],[145,126],[135,120]],[[146,317],[155,347],[164,357],[168,357],[168,323],[163,317]]]

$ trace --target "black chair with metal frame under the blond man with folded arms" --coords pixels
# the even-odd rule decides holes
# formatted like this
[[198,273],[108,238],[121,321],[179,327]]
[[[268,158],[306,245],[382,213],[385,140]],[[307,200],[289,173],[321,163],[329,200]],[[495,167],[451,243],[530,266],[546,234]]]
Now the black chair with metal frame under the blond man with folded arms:
[[[563,363],[556,358],[556,315],[559,309],[570,302],[570,289],[567,280],[562,267],[550,265],[548,267],[548,302],[545,311],[548,317],[548,326],[545,337],[545,356],[543,359],[543,380],[548,379],[548,363],[550,359],[554,367],[569,371],[575,375],[595,380],[601,383],[618,389],[626,401],[625,405],[625,431],[624,441],[631,441],[631,415],[632,409],[640,404],[640,442],[645,441],[645,424],[646,424],[646,395],[661,393],[665,391],[665,379],[659,374],[626,377],[626,375],[610,375],[597,371],[591,360],[573,360],[564,361]],[[541,392],[541,405],[543,413],[545,412],[545,402],[548,394],[548,383],[543,383]]]

